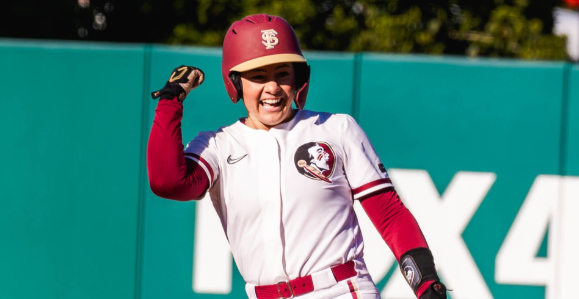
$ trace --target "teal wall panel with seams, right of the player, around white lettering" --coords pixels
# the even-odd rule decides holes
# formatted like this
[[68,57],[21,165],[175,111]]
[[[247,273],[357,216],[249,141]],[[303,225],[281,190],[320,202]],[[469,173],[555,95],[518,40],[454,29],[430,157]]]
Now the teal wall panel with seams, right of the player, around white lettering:
[[560,174],[563,79],[562,63],[362,60],[359,122],[388,168],[426,170],[441,195],[460,171],[496,175],[462,234],[495,298],[545,296],[496,283],[495,257],[537,175]]

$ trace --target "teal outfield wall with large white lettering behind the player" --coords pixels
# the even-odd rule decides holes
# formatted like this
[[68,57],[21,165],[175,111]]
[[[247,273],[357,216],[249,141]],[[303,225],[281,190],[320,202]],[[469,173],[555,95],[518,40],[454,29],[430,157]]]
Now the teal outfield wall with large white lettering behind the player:
[[[572,298],[568,284],[554,278],[569,273],[564,257],[579,266],[564,250],[579,246],[567,233],[577,222],[565,216],[579,201],[573,193],[579,189],[579,66],[305,55],[312,66],[308,109],[351,114],[365,129],[440,257],[453,299]],[[234,263],[207,271],[194,266],[205,258],[195,252],[214,244],[198,242],[206,221],[214,225],[197,216],[202,204],[160,199],[146,178],[156,105],[149,92],[175,66],[206,74],[185,102],[184,142],[244,116],[243,105],[226,96],[220,63],[213,48],[0,40],[0,298],[245,297]],[[440,206],[438,230],[429,228],[436,226],[431,216],[421,216],[427,199],[413,195],[413,189],[430,194],[428,184],[420,185],[422,174],[435,199],[442,198],[431,202]],[[414,187],[406,187],[409,175]],[[471,213],[444,207],[468,180],[465,202],[473,186],[488,183]],[[534,194],[547,196],[534,201]],[[463,229],[445,241],[447,248],[436,245],[433,238],[446,238],[458,225],[448,220],[453,215],[465,219]],[[530,223],[525,215],[539,224],[523,225]],[[367,248],[378,244],[362,229]],[[223,246],[222,233],[215,239],[215,248]],[[513,257],[512,244],[524,242],[531,256]],[[398,288],[401,276],[386,246],[373,248],[383,250],[374,257],[367,249],[383,297],[409,298]],[[457,260],[464,255],[472,263],[454,268],[445,257],[453,250]],[[460,271],[475,283],[461,281]],[[204,285],[203,275],[218,283]],[[480,292],[465,296],[467,287]]]

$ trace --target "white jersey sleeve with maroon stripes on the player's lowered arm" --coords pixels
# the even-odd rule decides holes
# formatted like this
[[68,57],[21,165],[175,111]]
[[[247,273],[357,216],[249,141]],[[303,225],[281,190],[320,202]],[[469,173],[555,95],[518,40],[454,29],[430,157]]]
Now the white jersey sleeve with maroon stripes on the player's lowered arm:
[[392,188],[388,172],[364,130],[349,115],[342,128],[344,170],[354,199],[363,200]]

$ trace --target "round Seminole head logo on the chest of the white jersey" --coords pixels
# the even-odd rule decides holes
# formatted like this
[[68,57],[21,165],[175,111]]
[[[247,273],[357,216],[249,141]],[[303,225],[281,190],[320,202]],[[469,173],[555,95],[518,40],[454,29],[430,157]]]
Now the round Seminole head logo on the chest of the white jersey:
[[336,155],[332,147],[323,141],[302,144],[294,155],[299,173],[312,180],[332,183],[330,179],[336,166]]

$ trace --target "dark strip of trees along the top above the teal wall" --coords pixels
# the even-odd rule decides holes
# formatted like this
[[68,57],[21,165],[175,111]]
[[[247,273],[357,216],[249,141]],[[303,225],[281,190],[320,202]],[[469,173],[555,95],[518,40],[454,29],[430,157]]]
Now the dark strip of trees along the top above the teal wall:
[[[552,34],[552,12],[562,0],[57,2],[44,3],[42,9],[10,2],[7,17],[0,18],[0,36],[221,46],[232,22],[269,13],[288,20],[305,49],[551,60],[567,56],[565,37]],[[15,23],[36,28],[10,26]]]

